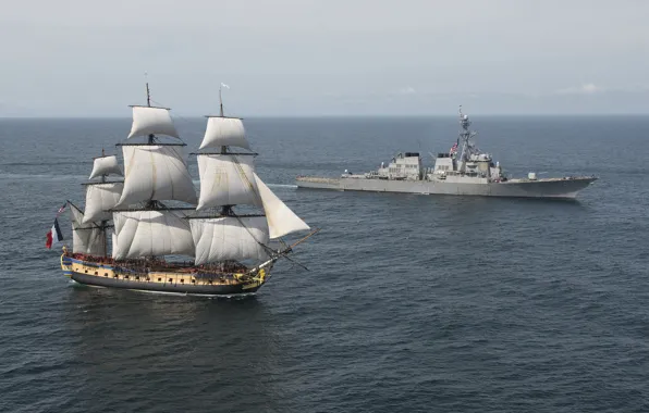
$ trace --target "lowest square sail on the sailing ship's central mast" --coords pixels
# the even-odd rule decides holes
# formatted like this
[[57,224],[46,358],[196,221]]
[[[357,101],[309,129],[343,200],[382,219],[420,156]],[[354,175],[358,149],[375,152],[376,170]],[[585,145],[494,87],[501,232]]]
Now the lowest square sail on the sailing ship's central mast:
[[113,213],[117,260],[154,255],[194,255],[189,223],[179,211],[120,211]]

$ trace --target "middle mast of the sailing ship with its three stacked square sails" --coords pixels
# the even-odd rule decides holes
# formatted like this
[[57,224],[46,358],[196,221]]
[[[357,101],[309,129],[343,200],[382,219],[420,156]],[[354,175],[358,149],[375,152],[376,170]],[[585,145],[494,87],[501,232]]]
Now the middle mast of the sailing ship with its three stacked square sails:
[[[183,147],[169,108],[151,105],[148,82],[146,105],[132,105],[133,124],[126,139],[147,137],[146,142],[123,142],[124,189],[111,209],[114,220],[113,251],[117,260],[194,254],[189,225],[182,210],[162,201],[196,204],[196,191]],[[158,136],[176,138],[162,142]],[[139,204],[144,208],[133,208]]]

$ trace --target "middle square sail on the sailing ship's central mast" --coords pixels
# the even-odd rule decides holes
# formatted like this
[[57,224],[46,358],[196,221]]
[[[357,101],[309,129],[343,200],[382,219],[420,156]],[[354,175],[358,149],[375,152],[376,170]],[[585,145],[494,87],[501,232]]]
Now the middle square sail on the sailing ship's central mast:
[[123,146],[124,190],[118,205],[149,200],[196,203],[196,191],[181,146]]

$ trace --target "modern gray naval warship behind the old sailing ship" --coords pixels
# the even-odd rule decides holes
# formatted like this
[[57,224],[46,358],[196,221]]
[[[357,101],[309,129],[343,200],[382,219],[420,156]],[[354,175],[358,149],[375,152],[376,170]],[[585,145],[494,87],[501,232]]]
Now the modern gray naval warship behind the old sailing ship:
[[[433,167],[425,167],[419,152],[396,154],[377,171],[340,178],[298,176],[298,188],[406,192],[421,195],[460,195],[482,197],[526,197],[574,199],[578,191],[597,180],[595,176],[539,178],[530,172],[527,178],[507,178],[491,154],[481,152],[469,129],[468,115],[460,107],[462,130],[449,152],[438,153]],[[458,155],[458,149],[462,150]]]

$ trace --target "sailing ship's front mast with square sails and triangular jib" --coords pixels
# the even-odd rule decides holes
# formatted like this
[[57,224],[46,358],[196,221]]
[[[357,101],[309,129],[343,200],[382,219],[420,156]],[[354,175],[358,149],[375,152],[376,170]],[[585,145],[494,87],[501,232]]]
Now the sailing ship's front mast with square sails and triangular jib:
[[[250,271],[254,273],[280,255],[268,246],[270,239],[309,227],[255,173],[257,153],[250,150],[243,120],[224,115],[222,87],[219,88],[219,115],[206,116],[199,149],[207,151],[196,153],[200,195],[197,216],[191,217],[195,264],[254,260],[260,263]],[[231,149],[233,147],[237,149]],[[240,205],[261,209],[265,214],[240,214]],[[284,216],[278,215],[280,211]]]

